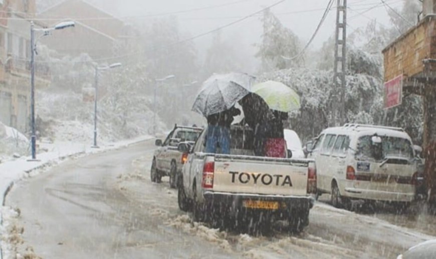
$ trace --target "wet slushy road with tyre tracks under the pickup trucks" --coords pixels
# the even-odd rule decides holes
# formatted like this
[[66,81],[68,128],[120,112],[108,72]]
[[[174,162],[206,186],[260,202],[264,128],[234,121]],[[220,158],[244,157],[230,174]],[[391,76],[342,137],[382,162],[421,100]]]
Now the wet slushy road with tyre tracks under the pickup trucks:
[[[18,183],[7,205],[24,227],[18,251],[43,258],[394,258],[432,238],[318,202],[300,235],[265,236],[192,223],[167,179],[151,183],[153,141],[71,160]],[[20,231],[18,231],[20,232]],[[19,238],[19,239],[20,239]]]

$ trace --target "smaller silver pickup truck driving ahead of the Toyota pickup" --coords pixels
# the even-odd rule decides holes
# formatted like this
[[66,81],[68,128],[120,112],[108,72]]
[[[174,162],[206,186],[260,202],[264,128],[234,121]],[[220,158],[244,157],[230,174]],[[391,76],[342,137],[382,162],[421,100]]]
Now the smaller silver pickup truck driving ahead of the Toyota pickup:
[[177,150],[180,142],[195,143],[203,128],[177,126],[168,134],[165,141],[155,140],[157,146],[153,154],[150,177],[152,182],[160,182],[162,176],[169,176],[169,185],[176,187],[176,174],[184,163],[183,153]]

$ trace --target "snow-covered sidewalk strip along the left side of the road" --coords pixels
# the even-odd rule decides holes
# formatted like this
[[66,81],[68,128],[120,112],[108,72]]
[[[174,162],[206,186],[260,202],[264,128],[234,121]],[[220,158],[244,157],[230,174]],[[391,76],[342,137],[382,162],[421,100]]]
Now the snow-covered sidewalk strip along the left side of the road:
[[[42,169],[52,167],[65,159],[73,156],[104,152],[121,147],[128,146],[140,141],[152,138],[151,136],[141,136],[134,139],[124,140],[101,146],[100,148],[91,148],[91,145],[73,142],[55,142],[41,143],[48,151],[37,155],[38,161],[28,161],[31,157],[21,157],[17,160],[7,161],[0,164],[0,247],[3,254],[9,254],[11,247],[9,240],[13,229],[4,224],[8,219],[19,215],[14,214],[14,210],[4,206],[5,197],[14,185],[20,179],[32,177],[42,172]],[[11,232],[12,231],[12,232]],[[0,256],[0,258],[2,258]],[[8,258],[8,257],[5,257]]]

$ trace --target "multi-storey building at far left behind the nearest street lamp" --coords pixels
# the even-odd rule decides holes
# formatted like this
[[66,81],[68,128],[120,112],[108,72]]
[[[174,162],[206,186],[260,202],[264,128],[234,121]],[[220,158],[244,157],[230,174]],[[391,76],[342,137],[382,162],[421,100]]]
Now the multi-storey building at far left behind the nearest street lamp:
[[[30,21],[35,0],[0,0],[0,121],[29,129]],[[48,66],[37,64],[36,87],[50,85]]]

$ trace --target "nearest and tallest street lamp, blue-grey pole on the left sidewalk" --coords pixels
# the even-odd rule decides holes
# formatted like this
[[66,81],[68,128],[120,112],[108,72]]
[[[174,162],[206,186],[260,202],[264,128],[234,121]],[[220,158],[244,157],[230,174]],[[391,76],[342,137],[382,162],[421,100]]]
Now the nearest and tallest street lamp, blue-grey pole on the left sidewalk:
[[[51,31],[62,30],[68,27],[74,27],[74,22],[62,22],[52,28],[35,28],[34,22],[30,23],[30,48],[31,48],[31,122],[32,122],[32,160],[36,160],[36,128],[35,128],[35,53],[36,53],[36,40],[35,32],[43,32],[39,37],[47,36],[51,34]],[[39,39],[38,38],[38,39]]]

